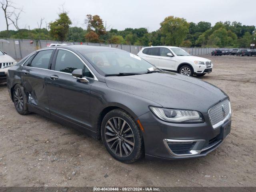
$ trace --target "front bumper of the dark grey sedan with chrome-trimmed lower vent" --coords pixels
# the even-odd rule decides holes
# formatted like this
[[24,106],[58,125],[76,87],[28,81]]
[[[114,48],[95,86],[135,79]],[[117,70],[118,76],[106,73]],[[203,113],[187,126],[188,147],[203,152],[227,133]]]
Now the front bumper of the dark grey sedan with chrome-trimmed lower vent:
[[139,117],[144,128],[144,146],[147,158],[184,159],[206,156],[230,133],[231,119],[218,128],[212,128],[208,114],[205,122],[175,124],[159,120],[148,112]]

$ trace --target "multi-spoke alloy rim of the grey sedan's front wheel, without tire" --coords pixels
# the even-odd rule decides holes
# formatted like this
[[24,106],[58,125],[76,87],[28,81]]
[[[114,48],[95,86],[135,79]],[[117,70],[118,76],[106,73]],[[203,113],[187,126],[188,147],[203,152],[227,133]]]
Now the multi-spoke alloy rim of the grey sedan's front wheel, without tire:
[[104,130],[106,143],[114,154],[129,156],[134,149],[134,134],[130,125],[120,117],[110,118]]

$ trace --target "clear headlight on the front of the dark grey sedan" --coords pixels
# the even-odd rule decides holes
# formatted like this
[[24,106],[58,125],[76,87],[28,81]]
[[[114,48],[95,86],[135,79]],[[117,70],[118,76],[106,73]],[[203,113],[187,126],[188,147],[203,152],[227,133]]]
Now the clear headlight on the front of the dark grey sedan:
[[161,120],[172,123],[202,123],[204,118],[200,112],[192,110],[167,109],[149,107],[150,110]]

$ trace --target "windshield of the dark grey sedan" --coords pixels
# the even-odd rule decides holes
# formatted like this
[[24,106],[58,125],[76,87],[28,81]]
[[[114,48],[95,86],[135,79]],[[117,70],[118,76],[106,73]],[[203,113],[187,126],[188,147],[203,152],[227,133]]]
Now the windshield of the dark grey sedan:
[[104,75],[134,73],[143,74],[154,67],[139,56],[122,50],[98,49],[80,50],[90,63]]

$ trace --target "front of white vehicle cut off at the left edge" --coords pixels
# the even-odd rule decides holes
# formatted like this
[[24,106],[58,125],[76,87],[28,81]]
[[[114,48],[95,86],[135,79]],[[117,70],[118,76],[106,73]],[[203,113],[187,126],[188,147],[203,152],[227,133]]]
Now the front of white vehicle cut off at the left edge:
[[6,82],[7,71],[15,63],[16,60],[14,58],[0,50],[0,83]]

